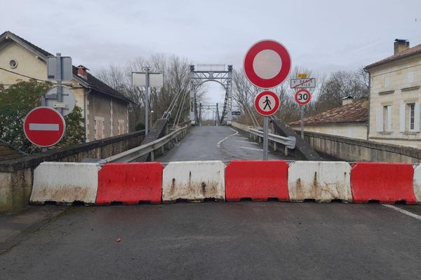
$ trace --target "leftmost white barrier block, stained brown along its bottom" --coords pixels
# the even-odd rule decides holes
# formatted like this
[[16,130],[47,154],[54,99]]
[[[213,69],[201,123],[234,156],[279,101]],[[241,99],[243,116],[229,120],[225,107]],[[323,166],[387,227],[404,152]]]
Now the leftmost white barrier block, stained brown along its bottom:
[[100,166],[95,163],[42,162],[34,170],[34,184],[29,202],[95,204],[99,169]]

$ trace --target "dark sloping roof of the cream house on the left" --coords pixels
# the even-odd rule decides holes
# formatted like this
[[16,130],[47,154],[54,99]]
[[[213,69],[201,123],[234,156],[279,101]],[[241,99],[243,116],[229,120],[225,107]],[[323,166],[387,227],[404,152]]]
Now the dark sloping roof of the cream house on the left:
[[[27,44],[29,46],[29,48],[32,48],[32,49],[36,50],[36,52],[40,52],[45,57],[48,57],[48,55],[52,55],[50,52],[47,52],[46,50],[43,50],[42,48],[39,48],[38,46],[36,46],[33,43],[25,40],[24,38],[22,38],[22,37],[20,37],[16,34],[13,34],[11,31],[5,31],[3,34],[0,35],[0,37],[4,36],[5,34],[9,35],[9,36],[10,35],[15,36],[20,41]],[[73,66],[73,75],[78,76],[76,66]],[[81,76],[78,76],[78,78],[80,78],[81,80],[85,80]],[[96,89],[97,92],[100,92],[102,94],[107,94],[107,95],[110,95],[112,97],[116,97],[118,99],[123,100],[124,102],[132,102],[131,99],[128,99],[123,94],[121,94],[121,92],[118,92],[118,91],[114,90],[112,87],[109,87],[107,84],[103,83],[101,80],[98,80],[98,78],[95,78],[95,76],[93,76],[91,73],[88,73],[88,77],[85,81],[86,81],[86,83],[88,83],[89,86],[94,87],[94,90]]]

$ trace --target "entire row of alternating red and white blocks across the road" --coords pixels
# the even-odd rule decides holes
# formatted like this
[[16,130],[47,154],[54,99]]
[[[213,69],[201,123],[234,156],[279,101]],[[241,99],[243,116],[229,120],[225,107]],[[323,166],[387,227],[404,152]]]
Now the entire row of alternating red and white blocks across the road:
[[421,166],[406,163],[218,160],[112,163],[43,162],[34,170],[30,203],[266,201],[421,204]]

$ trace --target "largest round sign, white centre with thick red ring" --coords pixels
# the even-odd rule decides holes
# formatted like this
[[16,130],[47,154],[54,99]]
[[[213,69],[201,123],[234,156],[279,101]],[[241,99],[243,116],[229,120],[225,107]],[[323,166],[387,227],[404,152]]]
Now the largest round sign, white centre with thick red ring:
[[291,58],[281,43],[274,40],[258,41],[246,52],[243,68],[250,83],[256,87],[272,88],[288,76]]

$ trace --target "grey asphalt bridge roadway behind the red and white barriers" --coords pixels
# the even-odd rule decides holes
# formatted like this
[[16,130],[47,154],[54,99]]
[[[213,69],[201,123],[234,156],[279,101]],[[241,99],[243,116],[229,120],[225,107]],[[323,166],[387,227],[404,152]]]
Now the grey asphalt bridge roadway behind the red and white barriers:
[[[269,152],[269,160],[293,160],[282,153]],[[192,127],[187,137],[160,158],[160,162],[186,160],[260,160],[262,144],[247,138],[247,135],[228,126]]]

